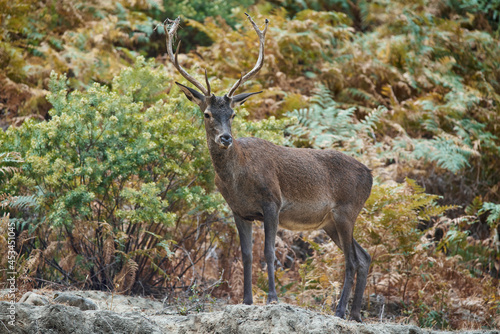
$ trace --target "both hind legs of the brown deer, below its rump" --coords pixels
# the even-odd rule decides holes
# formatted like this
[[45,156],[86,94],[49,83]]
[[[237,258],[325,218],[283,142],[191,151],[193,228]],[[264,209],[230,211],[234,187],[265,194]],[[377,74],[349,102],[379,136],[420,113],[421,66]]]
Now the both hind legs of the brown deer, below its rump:
[[331,223],[325,226],[324,230],[344,252],[345,256],[344,286],[335,310],[335,315],[340,318],[345,317],[347,302],[354,284],[354,276],[357,276],[351,318],[361,321],[361,300],[370,267],[370,256],[354,240],[352,234],[355,218],[349,219],[348,217],[348,215],[343,215],[341,210],[334,211]]

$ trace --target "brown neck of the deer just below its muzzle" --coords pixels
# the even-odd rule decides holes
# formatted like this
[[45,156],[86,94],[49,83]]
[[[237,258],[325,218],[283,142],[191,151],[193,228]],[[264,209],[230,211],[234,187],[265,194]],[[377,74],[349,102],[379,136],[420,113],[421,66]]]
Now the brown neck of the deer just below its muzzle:
[[208,141],[208,149],[210,158],[214,166],[215,172],[222,180],[232,179],[234,170],[239,164],[240,160],[240,147],[236,140],[227,148],[220,148],[213,140]]

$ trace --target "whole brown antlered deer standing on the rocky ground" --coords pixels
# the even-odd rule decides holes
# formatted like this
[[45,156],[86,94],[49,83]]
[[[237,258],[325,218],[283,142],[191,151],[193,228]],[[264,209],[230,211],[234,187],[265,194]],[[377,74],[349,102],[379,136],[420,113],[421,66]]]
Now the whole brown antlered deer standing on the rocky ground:
[[247,15],[259,38],[257,63],[224,96],[211,93],[205,70],[206,88],[178,62],[180,41],[173,53],[173,39],[180,17],[166,19],[167,53],[176,70],[196,88],[175,82],[187,99],[204,115],[206,141],[215,170],[215,184],[229,205],[240,239],[243,262],[243,303],[253,304],[252,225],[263,222],[264,256],[269,290],[267,304],[278,302],[275,286],[275,240],[278,227],[292,231],[323,229],[343,251],[345,277],[335,315],[345,318],[354,278],[356,286],[350,318],[361,322],[361,303],[371,257],[354,239],[356,219],[372,188],[371,170],[356,159],[333,149],[293,148],[249,137],[234,138],[231,130],[234,109],[251,96],[234,95],[238,87],[255,76],[264,63],[264,42],[269,20],[261,30]]

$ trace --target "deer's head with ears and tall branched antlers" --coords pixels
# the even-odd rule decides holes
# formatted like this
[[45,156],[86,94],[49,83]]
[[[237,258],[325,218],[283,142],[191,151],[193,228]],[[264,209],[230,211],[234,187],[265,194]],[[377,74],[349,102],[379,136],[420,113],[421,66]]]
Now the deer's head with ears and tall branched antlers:
[[[259,36],[260,40],[260,48],[259,48],[259,58],[257,59],[257,64],[255,67],[245,74],[242,75],[240,79],[231,87],[229,92],[223,97],[215,96],[210,91],[210,83],[208,81],[207,70],[205,70],[205,82],[207,88],[203,87],[201,83],[199,83],[195,78],[189,75],[179,64],[177,59],[177,55],[179,52],[180,41],[177,44],[177,48],[175,50],[175,54],[172,50],[172,43],[174,36],[179,28],[180,17],[175,20],[167,19],[165,20],[163,26],[165,28],[165,32],[167,35],[167,53],[170,57],[170,60],[174,64],[175,68],[181,73],[181,75],[186,78],[190,83],[192,83],[198,90],[184,86],[178,82],[176,84],[181,88],[186,97],[191,101],[196,103],[205,116],[205,129],[207,131],[207,140],[209,145],[215,143],[217,147],[222,149],[227,149],[231,147],[233,144],[233,136],[231,133],[231,125],[232,120],[235,116],[234,108],[243,104],[250,96],[259,94],[262,92],[254,92],[254,93],[243,93],[234,95],[236,89],[244,83],[245,81],[252,78],[259,70],[262,68],[264,63],[264,41],[266,36],[267,27],[269,24],[269,20],[266,19],[266,26],[264,30],[260,30],[255,22],[252,20],[250,15],[245,13],[252,23],[252,26]],[[168,25],[170,24],[170,29]]]

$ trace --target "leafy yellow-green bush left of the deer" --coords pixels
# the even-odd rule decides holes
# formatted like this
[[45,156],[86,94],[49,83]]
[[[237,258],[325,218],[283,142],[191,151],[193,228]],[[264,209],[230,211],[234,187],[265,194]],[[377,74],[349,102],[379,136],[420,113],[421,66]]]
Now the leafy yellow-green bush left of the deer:
[[[28,121],[7,133],[7,146],[21,151],[26,161],[24,176],[15,175],[11,182],[28,187],[28,192],[40,191],[35,223],[40,239],[34,246],[43,249],[47,242],[78,238],[83,233],[79,225],[99,222],[109,224],[109,233],[115,238],[125,237],[116,240],[118,251],[141,249],[144,257],[155,244],[168,241],[168,235],[158,232],[176,219],[188,212],[213,211],[221,204],[211,193],[211,164],[197,115],[178,98],[168,104],[158,100],[157,91],[169,82],[163,80],[162,71],[139,60],[134,69],[115,79],[116,89],[94,84],[87,91],[71,93],[67,79],[53,74],[52,119]],[[163,80],[163,87],[136,83],[152,78]],[[133,89],[123,93],[125,85]],[[144,103],[153,102],[144,110]],[[34,185],[25,184],[25,177],[33,179]],[[61,228],[65,233],[57,236]],[[136,228],[141,242],[134,244],[136,239],[128,234]],[[49,240],[43,235],[47,231],[54,231]],[[91,272],[103,271],[110,264],[118,268],[118,262],[99,258],[106,252],[104,234],[98,229],[87,237],[91,248],[80,245],[82,251],[77,254],[83,256],[82,265]],[[78,274],[83,273],[75,273],[76,277]],[[110,287],[112,279],[112,271],[106,278],[91,277],[94,287]]]

